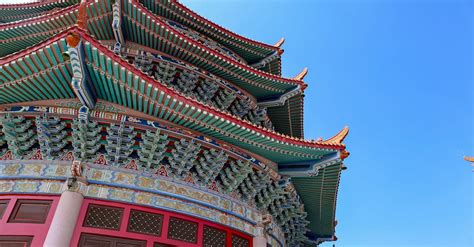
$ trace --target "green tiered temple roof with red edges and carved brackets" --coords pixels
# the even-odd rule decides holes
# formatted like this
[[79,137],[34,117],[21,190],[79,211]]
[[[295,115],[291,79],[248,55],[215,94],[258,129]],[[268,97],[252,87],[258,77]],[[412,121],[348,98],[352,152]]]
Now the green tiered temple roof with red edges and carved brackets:
[[270,214],[280,244],[333,239],[348,129],[302,139],[283,42],[175,0],[0,5],[0,157],[159,171]]

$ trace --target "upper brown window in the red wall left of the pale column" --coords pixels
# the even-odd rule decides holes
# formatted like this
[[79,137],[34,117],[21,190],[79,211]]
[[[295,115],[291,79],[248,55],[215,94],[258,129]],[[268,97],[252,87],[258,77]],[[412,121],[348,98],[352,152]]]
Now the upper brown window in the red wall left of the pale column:
[[8,222],[43,224],[48,217],[52,202],[50,200],[18,200]]

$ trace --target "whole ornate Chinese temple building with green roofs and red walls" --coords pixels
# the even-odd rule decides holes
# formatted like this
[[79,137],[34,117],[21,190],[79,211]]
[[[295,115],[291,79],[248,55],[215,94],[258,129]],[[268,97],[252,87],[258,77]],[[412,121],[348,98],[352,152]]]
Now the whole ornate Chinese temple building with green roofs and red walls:
[[0,246],[336,240],[348,128],[304,139],[283,43],[177,0],[0,5]]

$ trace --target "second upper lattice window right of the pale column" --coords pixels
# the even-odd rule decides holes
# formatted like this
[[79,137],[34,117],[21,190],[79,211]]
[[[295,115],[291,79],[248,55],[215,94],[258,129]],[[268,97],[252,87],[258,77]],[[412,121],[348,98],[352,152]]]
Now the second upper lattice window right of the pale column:
[[162,214],[131,210],[127,231],[161,236],[162,226]]

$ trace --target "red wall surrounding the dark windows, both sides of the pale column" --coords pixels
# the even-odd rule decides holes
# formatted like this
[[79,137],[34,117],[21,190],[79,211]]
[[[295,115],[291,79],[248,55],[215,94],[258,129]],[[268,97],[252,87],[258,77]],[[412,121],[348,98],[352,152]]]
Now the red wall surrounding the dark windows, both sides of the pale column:
[[[54,212],[58,205],[59,196],[35,196],[35,195],[0,195],[0,200],[9,199],[8,206],[0,220],[0,235],[11,235],[11,236],[33,236],[33,241],[31,246],[42,246],[44,240],[46,238],[46,234],[48,233],[49,226],[54,216]],[[44,224],[32,224],[32,223],[8,223],[8,218],[12,213],[12,210],[16,204],[16,201],[19,199],[29,199],[29,200],[52,200],[51,208],[48,212],[48,216]],[[105,206],[112,206],[112,207],[119,207],[123,208],[123,217],[120,225],[120,230],[107,230],[107,229],[98,229],[92,227],[84,227],[84,219],[87,213],[87,208],[89,204],[98,204],[98,205],[105,205]],[[132,233],[127,232],[127,224],[128,219],[130,216],[130,210],[140,210],[150,213],[158,213],[164,215],[163,219],[163,229],[161,237],[152,236],[152,235],[145,235],[139,233]],[[170,217],[176,217],[188,221],[193,221],[198,223],[198,241],[196,244],[186,243],[178,240],[168,239],[168,222]],[[231,229],[229,227],[225,227],[210,221],[202,220],[196,217],[186,216],[179,213],[174,213],[170,211],[158,210],[149,207],[142,207],[136,205],[130,205],[125,203],[118,203],[118,202],[111,202],[111,201],[103,201],[103,200],[95,200],[95,199],[84,199],[84,202],[81,207],[81,211],[79,213],[79,218],[76,224],[76,230],[72,237],[71,246],[77,246],[79,243],[79,238],[81,233],[92,233],[92,234],[99,234],[99,235],[108,235],[113,237],[121,237],[121,238],[129,238],[129,239],[139,239],[139,240],[146,240],[147,247],[153,247],[155,242],[163,243],[163,244],[170,244],[180,247],[198,247],[202,246],[203,244],[203,232],[204,232],[204,225],[208,225],[220,230],[224,230],[227,233],[227,246],[232,246],[232,235],[237,235],[242,238],[245,238],[249,241],[250,246],[252,247],[252,237]]]

